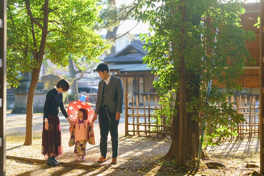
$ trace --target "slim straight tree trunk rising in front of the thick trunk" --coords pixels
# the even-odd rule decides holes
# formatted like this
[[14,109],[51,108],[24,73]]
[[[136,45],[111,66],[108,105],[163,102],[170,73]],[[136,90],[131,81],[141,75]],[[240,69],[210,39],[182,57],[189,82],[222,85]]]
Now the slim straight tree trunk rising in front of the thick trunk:
[[[182,3],[183,0],[182,0]],[[186,6],[182,6],[182,21],[186,18]],[[180,44],[181,50],[184,49],[184,28],[180,28]],[[179,149],[178,149],[178,164],[179,167],[186,167],[185,165],[185,152],[186,152],[186,135],[187,135],[187,112],[186,112],[186,83],[185,83],[185,55],[182,53],[180,56],[180,131],[179,131]]]

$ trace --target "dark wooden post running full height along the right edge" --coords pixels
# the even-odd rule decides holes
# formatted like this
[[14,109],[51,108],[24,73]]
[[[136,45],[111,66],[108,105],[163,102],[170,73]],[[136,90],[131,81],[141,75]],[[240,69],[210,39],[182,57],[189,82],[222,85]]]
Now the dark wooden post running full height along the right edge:
[[264,175],[264,115],[263,115],[263,109],[264,109],[264,1],[260,0],[260,174]]

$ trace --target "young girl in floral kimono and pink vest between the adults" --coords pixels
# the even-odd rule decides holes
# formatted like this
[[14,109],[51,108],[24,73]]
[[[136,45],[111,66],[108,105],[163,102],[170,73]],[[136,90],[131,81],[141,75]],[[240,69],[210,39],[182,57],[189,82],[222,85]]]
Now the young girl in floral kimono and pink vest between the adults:
[[95,145],[93,123],[88,120],[88,112],[86,109],[79,109],[77,113],[75,125],[70,126],[69,146],[75,145],[75,161],[85,161],[86,143]]

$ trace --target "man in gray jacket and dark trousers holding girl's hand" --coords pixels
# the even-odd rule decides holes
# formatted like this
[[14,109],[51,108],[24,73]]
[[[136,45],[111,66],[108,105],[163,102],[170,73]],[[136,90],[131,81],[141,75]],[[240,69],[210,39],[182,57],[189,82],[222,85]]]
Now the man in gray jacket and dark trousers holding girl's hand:
[[109,74],[109,66],[107,64],[99,64],[96,71],[102,78],[98,85],[95,114],[92,119],[92,121],[95,121],[97,114],[99,114],[101,157],[97,162],[103,163],[106,161],[107,136],[110,131],[113,150],[111,163],[116,164],[118,155],[117,128],[123,106],[123,85],[119,77]]

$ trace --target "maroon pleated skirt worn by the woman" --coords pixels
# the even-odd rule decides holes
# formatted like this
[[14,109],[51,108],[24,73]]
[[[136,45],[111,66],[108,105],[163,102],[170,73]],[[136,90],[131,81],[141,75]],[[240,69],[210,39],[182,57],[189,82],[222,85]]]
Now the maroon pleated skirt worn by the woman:
[[48,116],[49,130],[45,129],[43,122],[42,130],[42,154],[49,156],[51,153],[55,157],[62,154],[60,120],[59,117]]

